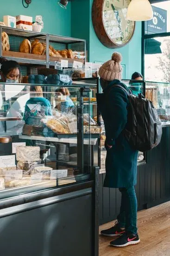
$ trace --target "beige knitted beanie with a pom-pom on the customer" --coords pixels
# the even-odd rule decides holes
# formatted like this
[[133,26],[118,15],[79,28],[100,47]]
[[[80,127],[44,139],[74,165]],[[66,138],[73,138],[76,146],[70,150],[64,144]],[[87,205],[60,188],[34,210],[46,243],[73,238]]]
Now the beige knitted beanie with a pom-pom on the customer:
[[120,62],[122,61],[122,55],[120,53],[113,53],[112,60],[105,62],[99,68],[99,75],[101,78],[107,81],[113,81],[114,79],[121,80],[122,67]]

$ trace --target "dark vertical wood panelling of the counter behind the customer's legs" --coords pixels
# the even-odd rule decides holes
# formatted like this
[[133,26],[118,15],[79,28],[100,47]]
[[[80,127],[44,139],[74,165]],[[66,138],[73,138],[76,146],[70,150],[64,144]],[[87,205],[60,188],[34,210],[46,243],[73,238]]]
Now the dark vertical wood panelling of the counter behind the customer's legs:
[[[100,175],[100,224],[116,219],[120,209],[118,189],[103,188]],[[161,143],[147,153],[147,163],[138,167],[138,209],[170,200],[170,127],[163,128]]]

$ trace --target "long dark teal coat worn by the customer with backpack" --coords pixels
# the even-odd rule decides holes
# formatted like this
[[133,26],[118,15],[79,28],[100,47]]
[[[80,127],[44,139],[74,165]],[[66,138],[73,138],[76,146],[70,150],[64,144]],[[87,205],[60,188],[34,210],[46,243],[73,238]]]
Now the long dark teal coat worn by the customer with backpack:
[[[112,81],[107,90],[119,81]],[[124,87],[128,90],[126,85]],[[107,108],[105,108],[106,143],[112,145],[107,148],[106,177],[104,187],[125,188],[136,185],[138,151],[132,149],[122,131],[127,123],[127,94],[121,88],[111,88],[107,95]]]

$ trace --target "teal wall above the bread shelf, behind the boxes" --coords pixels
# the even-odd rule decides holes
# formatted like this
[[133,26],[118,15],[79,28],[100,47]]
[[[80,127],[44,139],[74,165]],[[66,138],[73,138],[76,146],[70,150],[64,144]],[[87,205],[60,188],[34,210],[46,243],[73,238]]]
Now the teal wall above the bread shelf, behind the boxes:
[[32,0],[28,8],[24,8],[22,0],[0,0],[0,21],[4,15],[27,15],[35,21],[36,15],[42,15],[44,30],[42,32],[59,35],[71,35],[71,5],[67,9],[61,8],[57,0]]

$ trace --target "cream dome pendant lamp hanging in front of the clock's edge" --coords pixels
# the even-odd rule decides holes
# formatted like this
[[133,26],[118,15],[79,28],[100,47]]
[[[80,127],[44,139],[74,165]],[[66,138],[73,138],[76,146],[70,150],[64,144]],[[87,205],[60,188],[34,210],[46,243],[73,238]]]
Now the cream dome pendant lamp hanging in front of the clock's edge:
[[132,0],[127,8],[127,20],[145,21],[153,19],[153,11],[148,0]]

